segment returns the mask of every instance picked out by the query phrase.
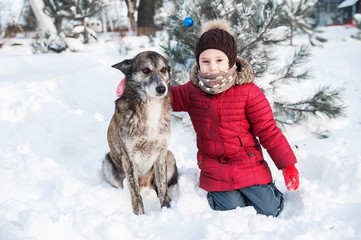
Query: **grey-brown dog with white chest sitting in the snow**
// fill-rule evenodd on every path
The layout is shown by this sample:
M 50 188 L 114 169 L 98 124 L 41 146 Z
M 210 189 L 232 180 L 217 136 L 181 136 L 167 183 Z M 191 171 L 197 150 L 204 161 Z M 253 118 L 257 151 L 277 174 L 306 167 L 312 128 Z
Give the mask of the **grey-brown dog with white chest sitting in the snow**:
M 123 188 L 127 178 L 134 214 L 144 214 L 140 189 L 146 186 L 155 189 L 161 207 L 169 208 L 168 187 L 178 181 L 176 160 L 168 150 L 171 68 L 153 51 L 112 67 L 125 74 L 125 86 L 108 127 L 110 152 L 103 160 L 104 175 L 117 188 Z

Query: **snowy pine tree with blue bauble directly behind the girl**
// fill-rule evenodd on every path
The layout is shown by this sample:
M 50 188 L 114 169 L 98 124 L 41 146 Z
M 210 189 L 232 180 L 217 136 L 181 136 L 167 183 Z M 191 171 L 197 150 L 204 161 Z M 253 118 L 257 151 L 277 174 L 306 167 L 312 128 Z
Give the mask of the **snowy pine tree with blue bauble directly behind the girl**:
M 201 23 L 215 18 L 227 19 L 233 26 L 238 55 L 249 61 L 255 71 L 256 84 L 270 100 L 275 120 L 281 125 L 293 125 L 310 116 L 337 118 L 344 116 L 340 90 L 320 86 L 309 99 L 298 102 L 279 101 L 278 89 L 310 79 L 310 70 L 301 70 L 309 60 L 310 48 L 294 47 L 289 62 L 280 66 L 274 55 L 276 47 L 289 39 L 290 31 L 282 24 L 281 12 L 286 1 L 277 0 L 191 0 L 177 1 L 178 9 L 169 18 L 169 41 L 163 46 L 173 66 L 174 85 L 188 81 L 188 70 L 194 63 L 193 49 L 199 37 Z M 192 27 L 183 26 L 183 19 L 191 17 Z M 284 44 L 283 44 L 284 45 Z

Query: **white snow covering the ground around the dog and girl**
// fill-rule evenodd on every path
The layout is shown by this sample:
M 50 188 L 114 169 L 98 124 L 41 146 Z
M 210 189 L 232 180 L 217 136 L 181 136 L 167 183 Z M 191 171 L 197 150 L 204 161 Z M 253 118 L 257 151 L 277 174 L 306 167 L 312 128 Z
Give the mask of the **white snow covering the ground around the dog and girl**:
M 126 56 L 119 55 L 119 40 L 111 34 L 78 53 L 32 55 L 27 45 L 5 45 L 0 239 L 361 239 L 361 42 L 350 38 L 356 31 L 325 28 L 328 42 L 313 48 L 309 65 L 315 78 L 308 84 L 344 88 L 347 117 L 320 121 L 330 131 L 327 139 L 301 127 L 284 132 L 299 161 L 299 190 L 288 192 L 266 158 L 285 194 L 279 218 L 257 215 L 251 207 L 211 210 L 198 186 L 195 136 L 176 122 L 170 149 L 179 182 L 170 189 L 170 209 L 160 209 L 156 193 L 144 189 L 145 215 L 136 216 L 128 188 L 115 189 L 104 180 L 106 132 L 123 78 L 110 66 L 140 51 L 161 51 L 158 38 L 124 38 L 132 46 Z

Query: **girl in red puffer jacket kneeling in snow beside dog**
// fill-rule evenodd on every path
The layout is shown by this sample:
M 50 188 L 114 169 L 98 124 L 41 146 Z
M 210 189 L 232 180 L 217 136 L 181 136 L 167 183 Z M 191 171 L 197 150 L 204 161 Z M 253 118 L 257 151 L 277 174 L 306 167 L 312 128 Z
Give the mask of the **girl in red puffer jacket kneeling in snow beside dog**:
M 186 111 L 191 118 L 200 187 L 208 192 L 211 208 L 253 206 L 259 214 L 278 216 L 283 194 L 273 183 L 259 142 L 282 169 L 290 191 L 299 185 L 297 160 L 265 95 L 253 83 L 250 64 L 237 57 L 230 29 L 224 20 L 204 24 L 190 81 L 171 88 L 173 111 Z

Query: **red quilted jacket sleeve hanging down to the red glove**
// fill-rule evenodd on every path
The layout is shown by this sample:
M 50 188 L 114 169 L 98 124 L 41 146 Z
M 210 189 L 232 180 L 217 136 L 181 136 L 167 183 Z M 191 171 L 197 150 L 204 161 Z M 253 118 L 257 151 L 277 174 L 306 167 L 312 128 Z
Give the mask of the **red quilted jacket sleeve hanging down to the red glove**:
M 267 149 L 268 154 L 278 169 L 283 169 L 297 162 L 286 137 L 276 126 L 271 106 L 255 84 L 249 88 L 246 103 L 246 115 L 251 124 L 253 133 Z

